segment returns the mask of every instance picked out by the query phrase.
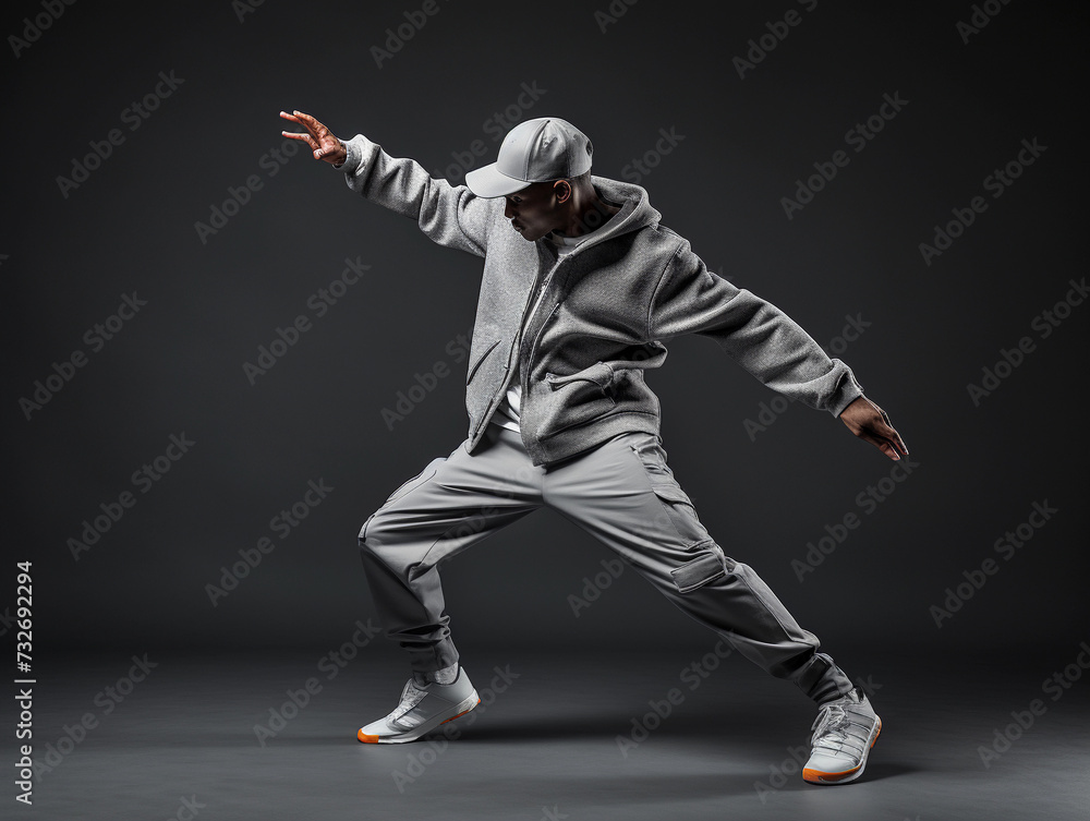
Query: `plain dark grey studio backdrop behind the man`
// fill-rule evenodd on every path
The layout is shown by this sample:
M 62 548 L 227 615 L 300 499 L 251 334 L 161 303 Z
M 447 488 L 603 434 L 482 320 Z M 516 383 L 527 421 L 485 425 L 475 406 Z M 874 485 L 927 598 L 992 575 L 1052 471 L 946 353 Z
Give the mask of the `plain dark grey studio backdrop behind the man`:
M 825 524 L 860 514 L 856 495 L 893 462 L 803 407 L 751 440 L 743 421 L 776 395 L 707 340 L 674 342 L 652 375 L 670 463 L 727 553 L 834 654 L 875 640 L 1074 652 L 1088 615 L 1090 307 L 1039 340 L 979 408 L 966 385 L 1001 348 L 1036 336 L 1033 317 L 1086 270 L 1082 7 L 1014 2 L 964 44 L 955 24 L 969 3 L 822 0 L 807 12 L 786 0 L 714 10 L 641 0 L 603 33 L 590 3 L 440 2 L 379 69 L 370 48 L 417 8 L 267 2 L 240 23 L 229 2 L 76 3 L 17 59 L 3 58 L 0 601 L 14 600 L 10 563 L 33 560 L 41 656 L 106 645 L 324 652 L 372 615 L 355 535 L 395 487 L 465 436 L 465 362 L 446 346 L 472 327 L 482 263 L 354 196 L 305 152 L 275 177 L 259 164 L 283 142 L 278 111 L 293 108 L 429 170 L 475 140 L 487 153 L 474 165 L 491 162 L 499 142 L 483 123 L 522 83 L 546 89 L 523 116 L 584 130 L 602 176 L 623 179 L 659 129 L 676 129 L 683 141 L 640 181 L 665 225 L 822 345 L 849 315 L 871 323 L 837 355 L 919 467 L 802 583 L 792 559 Z M 801 24 L 739 79 L 731 58 L 790 8 Z M 10 5 L 3 32 L 38 12 Z M 184 83 L 128 131 L 120 112 L 160 71 Z M 780 197 L 844 148 L 884 94 L 909 104 L 788 220 Z M 63 197 L 57 177 L 113 128 L 124 144 Z M 1024 138 L 1046 152 L 991 200 L 983 179 Z M 255 173 L 263 189 L 202 243 L 194 224 Z M 978 194 L 988 210 L 924 265 L 918 244 Z M 251 386 L 243 362 L 278 326 L 314 318 L 307 298 L 346 257 L 371 266 L 365 279 Z M 86 351 L 84 331 L 132 291 L 147 305 L 28 421 L 20 398 L 51 363 Z M 388 430 L 382 409 L 437 361 L 451 375 Z M 133 471 L 182 432 L 192 451 L 73 560 L 65 542 L 83 520 L 133 490 Z M 276 539 L 270 518 L 319 478 L 332 494 Z M 993 543 L 1043 499 L 1059 512 L 1004 562 Z M 266 535 L 276 550 L 213 607 L 206 584 Z M 937 629 L 929 607 L 990 556 L 1000 572 Z M 463 648 L 710 644 L 631 571 L 576 618 L 569 595 L 606 558 L 573 526 L 535 514 L 446 565 L 456 637 Z

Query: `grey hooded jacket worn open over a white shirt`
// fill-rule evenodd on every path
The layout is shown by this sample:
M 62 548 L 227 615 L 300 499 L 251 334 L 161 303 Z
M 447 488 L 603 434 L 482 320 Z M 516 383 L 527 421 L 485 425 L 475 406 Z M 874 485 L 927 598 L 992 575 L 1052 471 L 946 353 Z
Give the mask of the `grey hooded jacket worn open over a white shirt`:
M 639 185 L 592 177 L 598 196 L 621 209 L 598 239 L 559 256 L 549 240 L 530 242 L 511 228 L 504 197 L 432 179 L 363 134 L 344 145 L 336 168 L 352 191 L 416 220 L 434 242 L 484 257 L 465 375 L 469 452 L 517 362 L 522 440 L 534 464 L 625 431 L 658 434 L 658 397 L 644 371 L 659 367 L 663 342 L 682 334 L 711 337 L 764 385 L 834 415 L 863 393 L 851 369 L 783 311 L 708 270 L 688 240 L 661 225 Z

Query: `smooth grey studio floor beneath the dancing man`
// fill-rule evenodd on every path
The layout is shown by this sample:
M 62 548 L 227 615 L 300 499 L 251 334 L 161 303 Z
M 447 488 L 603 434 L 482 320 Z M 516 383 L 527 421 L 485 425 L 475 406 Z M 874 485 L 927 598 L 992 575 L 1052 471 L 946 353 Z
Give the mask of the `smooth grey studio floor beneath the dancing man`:
M 392 709 L 404 669 L 392 652 L 372 647 L 330 677 L 335 667 L 323 652 L 149 653 L 157 666 L 120 701 L 106 687 L 128 672 L 125 654 L 53 659 L 37 672 L 34 717 L 35 756 L 44 759 L 51 745 L 53 766 L 35 784 L 33 809 L 13 800 L 5 778 L 4 804 L 14 810 L 3 817 L 1090 816 L 1090 683 L 1042 690 L 1078 648 L 899 656 L 860 650 L 849 654 L 855 669 L 838 656 L 871 688 L 884 729 L 863 776 L 835 787 L 808 785 L 799 774 L 810 702 L 737 655 L 708 656 L 706 678 L 697 678 L 685 671 L 701 663 L 699 649 L 591 657 L 463 648 L 477 689 L 491 690 L 476 719 L 457 733 L 460 722 L 448 725 L 451 738 L 373 746 L 359 744 L 355 729 Z M 308 679 L 308 703 L 298 714 L 284 711 L 289 721 L 263 746 L 255 725 L 267 724 L 269 711 Z M 671 688 L 680 703 L 622 754 L 618 737 Z M 979 748 L 1036 698 L 1044 710 L 985 769 Z M 65 726 L 87 714 L 97 724 L 78 742 L 62 741 L 72 735 Z M 14 753 L 13 734 L 4 735 Z

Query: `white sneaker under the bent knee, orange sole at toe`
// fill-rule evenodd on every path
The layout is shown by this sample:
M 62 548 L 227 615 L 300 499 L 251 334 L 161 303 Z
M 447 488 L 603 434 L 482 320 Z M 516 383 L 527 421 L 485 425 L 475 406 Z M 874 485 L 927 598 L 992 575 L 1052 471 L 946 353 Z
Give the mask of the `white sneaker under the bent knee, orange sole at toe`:
M 364 744 L 415 741 L 480 703 L 481 698 L 461 665 L 458 678 L 449 685 L 427 681 L 420 674 L 413 674 L 401 691 L 401 703 L 397 709 L 386 717 L 361 727 L 355 736 Z

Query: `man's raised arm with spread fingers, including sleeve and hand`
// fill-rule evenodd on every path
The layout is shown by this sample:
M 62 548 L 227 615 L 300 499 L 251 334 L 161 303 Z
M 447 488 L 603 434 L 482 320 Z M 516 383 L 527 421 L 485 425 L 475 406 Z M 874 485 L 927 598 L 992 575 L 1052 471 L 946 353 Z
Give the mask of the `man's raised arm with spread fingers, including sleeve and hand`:
M 284 131 L 283 135 L 306 142 L 315 159 L 344 173 L 352 191 L 415 219 L 433 242 L 484 256 L 496 222 L 489 201 L 474 196 L 465 185 L 432 179 L 415 160 L 391 157 L 363 134 L 342 141 L 310 114 L 281 111 L 280 117 L 306 129 L 303 134 Z

